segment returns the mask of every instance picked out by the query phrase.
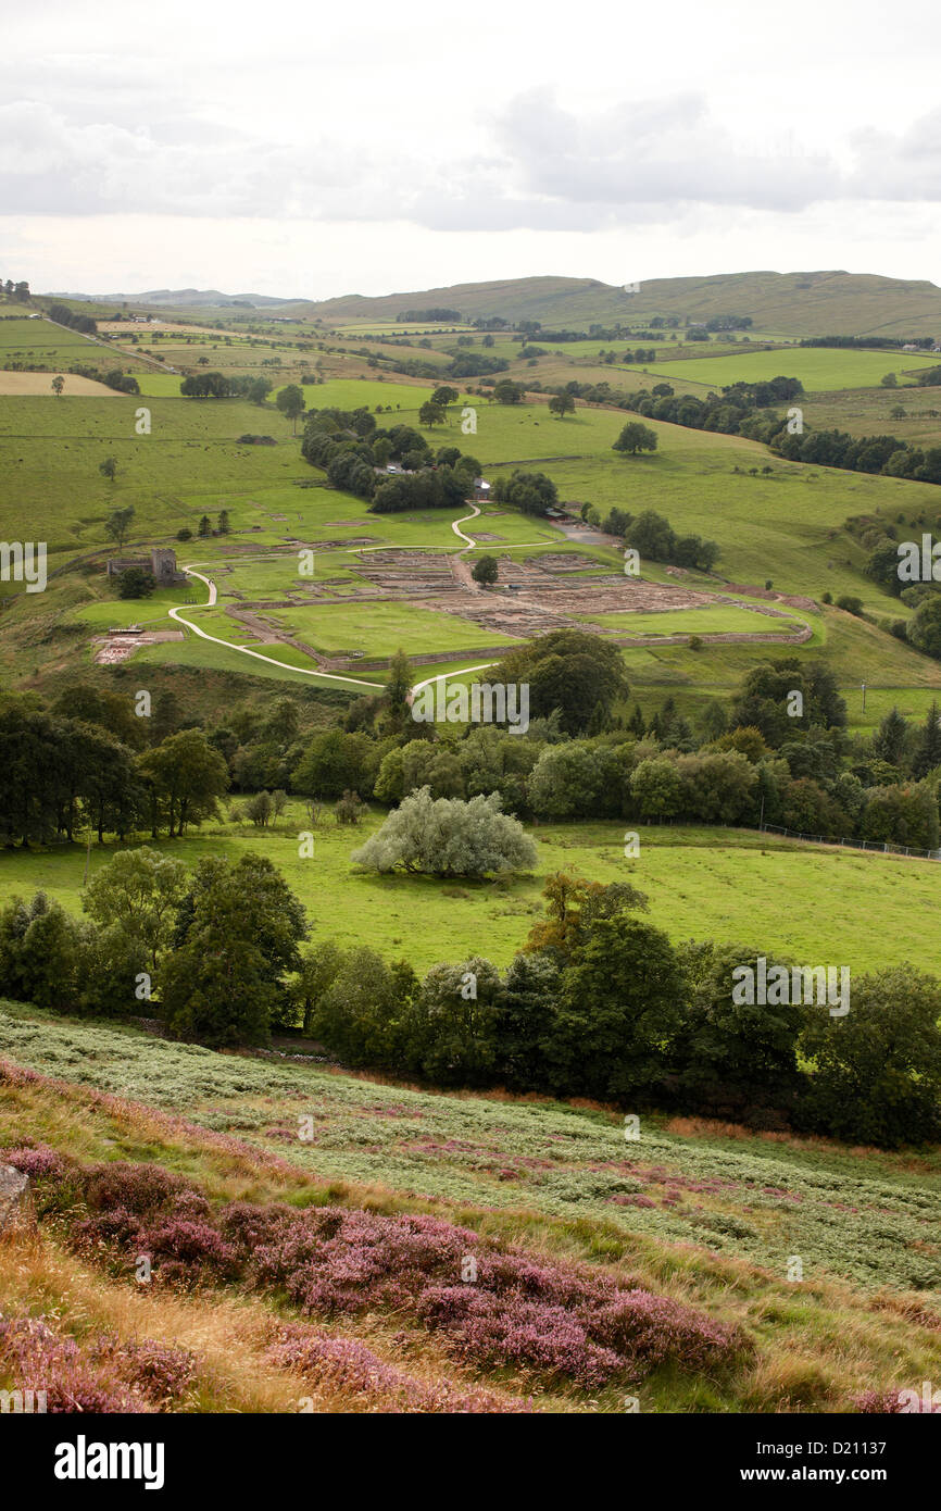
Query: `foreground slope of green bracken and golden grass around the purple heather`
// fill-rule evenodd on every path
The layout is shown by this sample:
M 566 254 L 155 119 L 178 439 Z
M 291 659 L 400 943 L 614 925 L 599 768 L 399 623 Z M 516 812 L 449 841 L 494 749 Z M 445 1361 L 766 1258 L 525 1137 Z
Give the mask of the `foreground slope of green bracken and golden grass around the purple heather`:
M 731 1381 L 657 1373 L 637 1390 L 645 1411 L 852 1410 L 864 1389 L 930 1375 L 930 1307 L 941 1275 L 932 1242 L 938 1170 L 929 1159 L 730 1138 L 714 1126 L 656 1117 L 643 1118 L 640 1141 L 628 1144 L 621 1120 L 601 1109 L 433 1095 L 317 1067 L 218 1056 L 12 1005 L 0 1011 L 0 1052 L 60 1077 L 8 1083 L 6 1144 L 18 1144 L 27 1126 L 83 1160 L 163 1163 L 216 1198 L 433 1212 L 482 1238 L 604 1266 L 746 1328 L 755 1358 Z M 101 1095 L 89 1105 L 91 1091 Z M 298 1138 L 308 1112 L 313 1144 Z M 784 1278 L 793 1254 L 804 1262 L 801 1283 Z M 246 1342 L 246 1363 L 258 1357 L 266 1318 L 255 1301 L 240 1302 L 239 1313 L 228 1310 L 236 1298 L 225 1302 L 221 1327 L 201 1337 L 204 1293 L 139 1298 L 127 1280 L 106 1284 L 63 1259 L 53 1239 L 3 1284 L 5 1298 L 11 1292 L 42 1310 L 59 1301 L 76 1330 L 103 1313 L 150 1336 L 174 1337 L 177 1325 L 180 1340 L 208 1345 L 204 1369 L 216 1401 L 228 1392 L 236 1410 L 251 1410 L 246 1398 L 267 1392 L 281 1405 L 255 1410 L 292 1408 L 284 1380 L 264 1370 L 252 1392 L 251 1369 L 234 1361 Z M 240 1346 L 219 1380 L 219 1342 L 231 1322 Z M 399 1319 L 355 1324 L 363 1325 L 378 1351 L 399 1328 L 399 1360 L 420 1349 L 424 1369 L 441 1370 L 435 1346 L 403 1333 Z M 526 1390 L 508 1372 L 500 1383 Z M 586 1402 L 572 1392 L 536 1390 L 536 1405 L 622 1408 L 613 1392 Z

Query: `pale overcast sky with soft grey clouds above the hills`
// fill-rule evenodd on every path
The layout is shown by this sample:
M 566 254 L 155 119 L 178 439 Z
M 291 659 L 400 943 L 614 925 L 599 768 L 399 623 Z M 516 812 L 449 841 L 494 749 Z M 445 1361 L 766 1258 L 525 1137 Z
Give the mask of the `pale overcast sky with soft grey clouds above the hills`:
M 941 284 L 939 65 L 936 0 L 8 8 L 0 277 Z

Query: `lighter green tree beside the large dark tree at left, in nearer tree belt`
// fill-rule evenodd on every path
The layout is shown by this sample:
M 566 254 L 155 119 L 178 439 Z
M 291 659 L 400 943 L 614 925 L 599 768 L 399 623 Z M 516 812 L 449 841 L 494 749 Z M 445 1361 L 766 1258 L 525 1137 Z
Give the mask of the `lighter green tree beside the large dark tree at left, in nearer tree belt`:
M 150 969 L 157 970 L 171 946 L 177 908 L 186 893 L 187 870 L 183 861 L 147 845 L 118 851 L 85 888 L 82 907 L 103 928 L 118 925 L 145 950 Z

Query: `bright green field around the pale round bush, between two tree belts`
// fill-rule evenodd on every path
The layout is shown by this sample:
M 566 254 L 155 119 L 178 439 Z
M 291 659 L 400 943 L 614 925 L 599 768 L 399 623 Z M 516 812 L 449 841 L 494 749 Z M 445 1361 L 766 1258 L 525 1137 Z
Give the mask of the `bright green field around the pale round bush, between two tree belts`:
M 276 648 L 272 653 L 281 654 Z M 361 873 L 350 851 L 382 817 L 375 810 L 355 833 L 332 817 L 325 820 L 310 860 L 298 855 L 298 834 L 310 825 L 296 801 L 273 831 L 207 825 L 184 840 L 154 843 L 190 864 L 210 854 L 233 860 L 246 851 L 270 855 L 308 908 L 314 938 L 369 943 L 421 967 L 473 953 L 509 964 L 541 913 L 545 875 L 575 867 L 594 881 L 630 879 L 640 887 L 649 896 L 651 922 L 674 940 L 755 943 L 799 964 L 837 961 L 853 970 L 917 961 L 920 969 L 941 973 L 941 941 L 924 929 L 938 888 L 933 861 L 739 830 L 636 825 L 630 827 L 640 836 L 640 858 L 628 861 L 625 822 L 541 823 L 532 830 L 539 849 L 535 875 L 456 885 L 430 876 Z M 115 848 L 92 845 L 91 873 L 107 864 Z M 77 913 L 83 870 L 82 845 L 36 854 L 5 851 L 0 898 L 45 888 Z M 878 931 L 873 917 L 879 919 Z

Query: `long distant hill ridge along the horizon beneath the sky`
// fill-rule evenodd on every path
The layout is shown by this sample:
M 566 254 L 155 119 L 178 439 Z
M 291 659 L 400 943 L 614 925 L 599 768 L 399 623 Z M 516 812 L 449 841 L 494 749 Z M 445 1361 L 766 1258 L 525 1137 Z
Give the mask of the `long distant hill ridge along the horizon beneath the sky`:
M 335 299 L 279 299 L 228 295 L 218 289 L 150 289 L 137 295 L 57 295 L 134 307 L 211 310 L 251 307 L 282 314 L 343 320 L 394 320 L 406 310 L 449 307 L 468 319 L 498 316 L 539 320 L 547 328 L 643 325 L 656 314 L 708 320 L 719 314 L 751 316 L 755 329 L 784 335 L 941 335 L 941 289 L 927 280 L 847 272 L 714 273 L 708 278 L 651 278 L 628 293 L 597 278 L 508 278 L 452 284 L 411 293 L 343 295 Z

